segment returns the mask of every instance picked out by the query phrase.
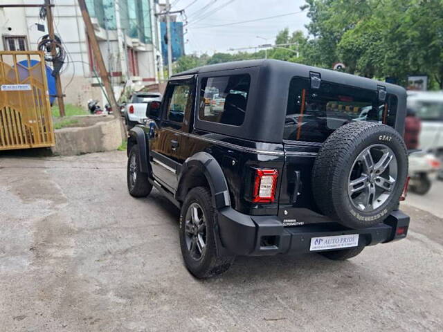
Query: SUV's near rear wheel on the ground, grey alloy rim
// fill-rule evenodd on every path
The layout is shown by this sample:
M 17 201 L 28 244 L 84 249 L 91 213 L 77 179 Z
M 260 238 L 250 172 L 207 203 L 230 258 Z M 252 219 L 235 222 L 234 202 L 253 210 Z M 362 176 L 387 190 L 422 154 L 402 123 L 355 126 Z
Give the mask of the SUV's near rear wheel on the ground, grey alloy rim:
M 200 279 L 224 273 L 233 264 L 234 257 L 217 256 L 216 221 L 209 190 L 190 190 L 180 212 L 180 247 L 186 268 Z

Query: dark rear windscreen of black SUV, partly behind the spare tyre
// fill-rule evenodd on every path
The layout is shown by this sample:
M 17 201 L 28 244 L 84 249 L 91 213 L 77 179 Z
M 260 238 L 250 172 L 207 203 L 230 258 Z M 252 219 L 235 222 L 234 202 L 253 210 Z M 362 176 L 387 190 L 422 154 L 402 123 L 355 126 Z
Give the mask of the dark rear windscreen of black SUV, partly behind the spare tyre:
M 334 130 L 352 121 L 374 121 L 394 127 L 396 110 L 395 95 L 380 102 L 377 91 L 323 81 L 320 89 L 311 89 L 309 80 L 294 77 L 289 86 L 283 138 L 324 142 Z

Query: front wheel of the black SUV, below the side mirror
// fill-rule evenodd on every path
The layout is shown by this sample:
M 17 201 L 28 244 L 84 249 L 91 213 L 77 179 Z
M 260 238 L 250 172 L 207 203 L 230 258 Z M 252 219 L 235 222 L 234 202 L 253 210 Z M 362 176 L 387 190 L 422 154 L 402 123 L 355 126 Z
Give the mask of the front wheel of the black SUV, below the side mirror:
M 134 145 L 127 159 L 127 189 L 134 197 L 145 197 L 150 194 L 152 185 L 149 183 L 147 173 L 140 169 L 140 151 L 138 145 Z

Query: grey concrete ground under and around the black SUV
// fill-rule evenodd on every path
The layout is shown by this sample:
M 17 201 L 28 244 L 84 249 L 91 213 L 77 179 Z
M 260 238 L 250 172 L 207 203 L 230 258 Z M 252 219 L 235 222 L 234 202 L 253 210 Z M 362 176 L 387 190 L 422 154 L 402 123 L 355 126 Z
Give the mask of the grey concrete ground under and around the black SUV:
M 201 282 L 177 209 L 130 197 L 125 160 L 0 158 L 0 331 L 443 331 L 443 220 L 417 197 L 404 241 L 345 262 L 238 257 Z

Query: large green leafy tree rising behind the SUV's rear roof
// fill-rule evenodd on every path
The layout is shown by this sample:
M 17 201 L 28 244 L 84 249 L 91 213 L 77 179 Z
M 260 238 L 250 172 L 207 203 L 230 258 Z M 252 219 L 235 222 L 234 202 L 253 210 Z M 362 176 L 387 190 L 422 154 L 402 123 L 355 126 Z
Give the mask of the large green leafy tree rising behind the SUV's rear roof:
M 366 77 L 426 73 L 443 89 L 443 0 L 307 0 L 306 63 Z

